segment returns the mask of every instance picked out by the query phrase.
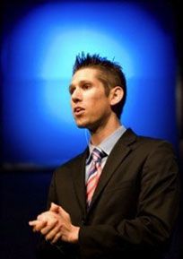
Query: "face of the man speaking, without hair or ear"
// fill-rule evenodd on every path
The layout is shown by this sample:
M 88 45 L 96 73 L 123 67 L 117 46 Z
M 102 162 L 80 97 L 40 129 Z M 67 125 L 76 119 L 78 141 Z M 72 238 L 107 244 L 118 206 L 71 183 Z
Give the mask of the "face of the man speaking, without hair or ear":
M 109 96 L 106 96 L 99 72 L 94 68 L 83 68 L 74 73 L 70 85 L 71 106 L 74 120 L 79 127 L 95 130 L 111 115 Z

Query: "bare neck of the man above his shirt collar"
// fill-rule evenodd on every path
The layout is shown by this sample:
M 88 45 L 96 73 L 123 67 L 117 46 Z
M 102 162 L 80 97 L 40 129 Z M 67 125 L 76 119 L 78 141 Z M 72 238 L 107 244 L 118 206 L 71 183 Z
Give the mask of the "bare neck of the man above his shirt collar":
M 99 145 L 110 134 L 115 132 L 120 126 L 118 118 L 111 118 L 107 124 L 100 125 L 95 131 L 91 131 L 91 142 L 93 145 Z

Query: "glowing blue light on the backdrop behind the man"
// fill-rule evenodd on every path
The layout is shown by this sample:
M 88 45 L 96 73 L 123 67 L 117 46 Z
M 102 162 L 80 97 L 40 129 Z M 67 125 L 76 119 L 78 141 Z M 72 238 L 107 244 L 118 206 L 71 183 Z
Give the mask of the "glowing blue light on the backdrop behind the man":
M 128 82 L 125 125 L 171 140 L 176 131 L 174 48 L 153 15 L 134 4 L 45 4 L 4 39 L 7 160 L 57 163 L 83 150 L 87 140 L 76 130 L 68 94 L 81 51 L 122 65 Z

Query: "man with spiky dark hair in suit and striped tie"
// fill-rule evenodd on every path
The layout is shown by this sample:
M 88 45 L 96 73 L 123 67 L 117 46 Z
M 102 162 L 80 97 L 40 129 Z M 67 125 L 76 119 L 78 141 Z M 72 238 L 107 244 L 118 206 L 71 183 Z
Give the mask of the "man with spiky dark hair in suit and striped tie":
M 82 154 L 57 168 L 48 211 L 30 221 L 43 237 L 39 258 L 162 258 L 179 211 L 179 177 L 168 142 L 120 124 L 121 67 L 77 56 L 70 85 L 76 125 L 89 129 Z

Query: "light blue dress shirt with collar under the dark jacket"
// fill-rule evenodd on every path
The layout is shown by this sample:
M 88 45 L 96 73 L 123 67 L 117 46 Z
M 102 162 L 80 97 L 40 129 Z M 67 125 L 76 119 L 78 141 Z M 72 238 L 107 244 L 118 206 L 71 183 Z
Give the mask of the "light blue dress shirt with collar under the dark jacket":
M 92 158 L 92 150 L 94 148 L 98 148 L 100 151 L 104 151 L 106 153 L 106 156 L 101 160 L 101 168 L 104 167 L 108 157 L 109 153 L 112 151 L 115 144 L 118 142 L 119 138 L 126 132 L 126 127 L 124 125 L 121 125 L 114 133 L 110 134 L 105 140 L 100 142 L 98 146 L 92 145 L 92 143 L 89 143 L 89 157 L 86 160 L 86 168 L 85 168 L 85 182 L 87 182 L 88 175 L 89 175 L 89 168 L 91 166 Z

